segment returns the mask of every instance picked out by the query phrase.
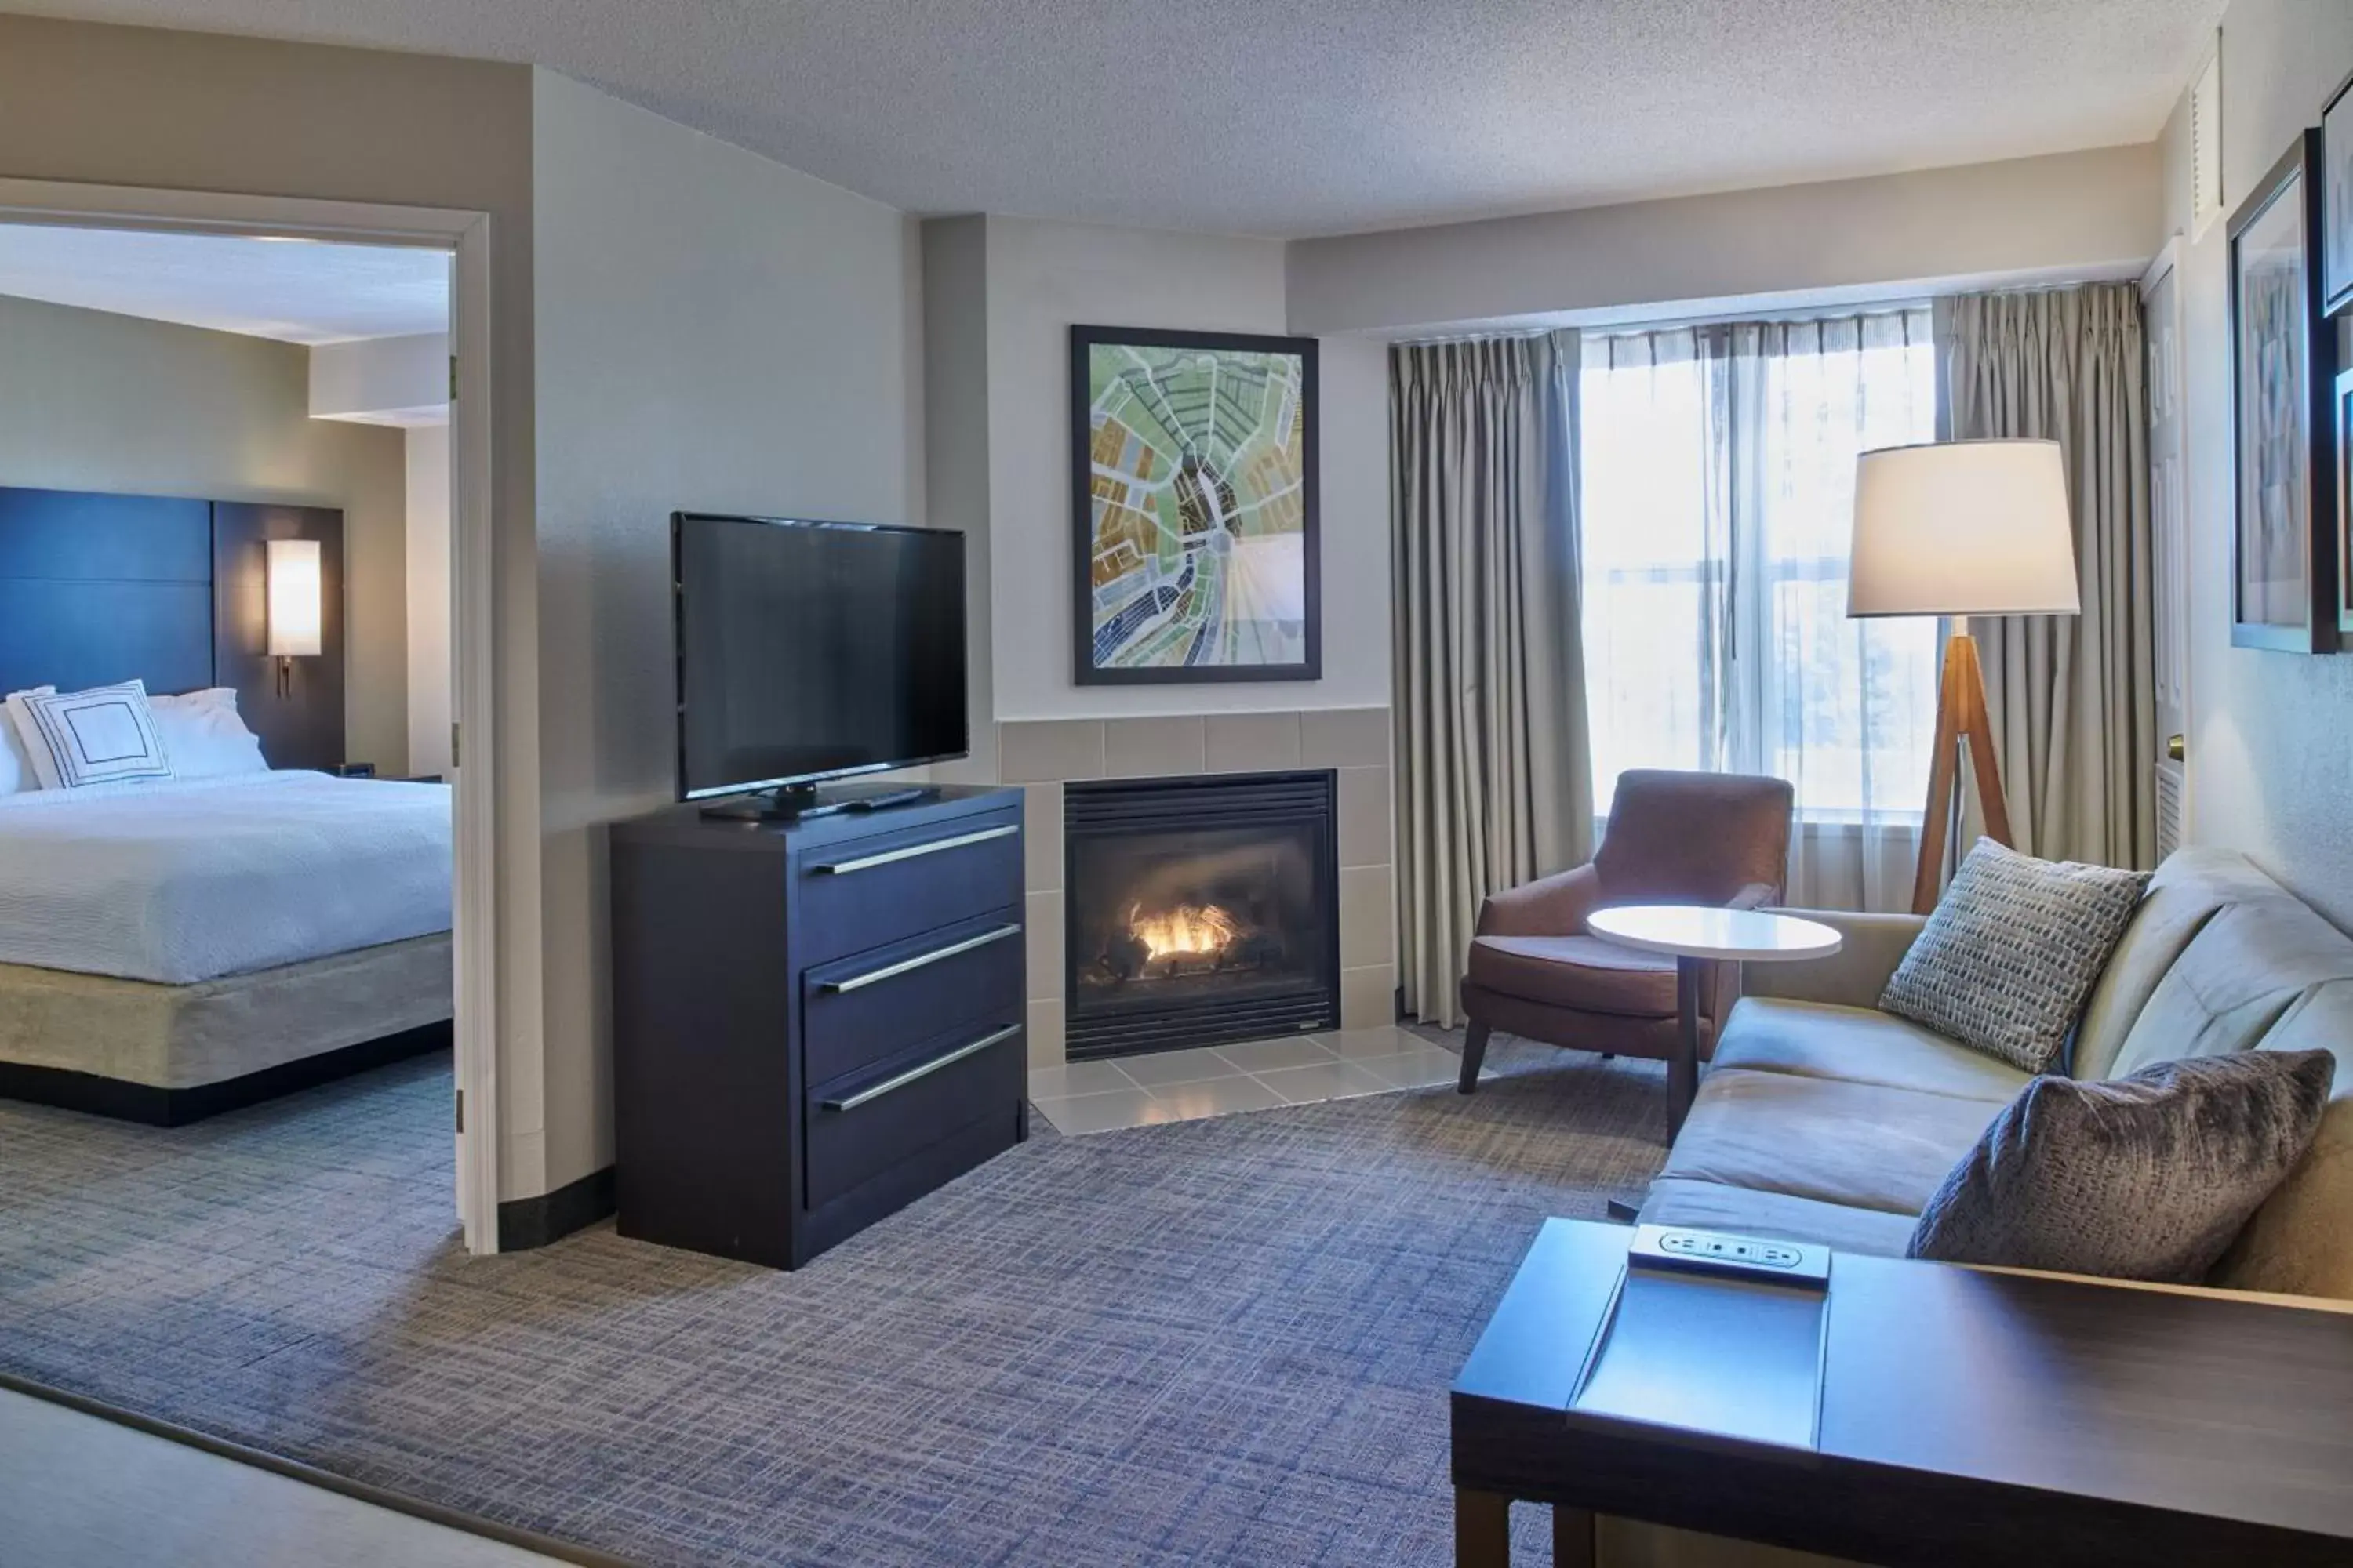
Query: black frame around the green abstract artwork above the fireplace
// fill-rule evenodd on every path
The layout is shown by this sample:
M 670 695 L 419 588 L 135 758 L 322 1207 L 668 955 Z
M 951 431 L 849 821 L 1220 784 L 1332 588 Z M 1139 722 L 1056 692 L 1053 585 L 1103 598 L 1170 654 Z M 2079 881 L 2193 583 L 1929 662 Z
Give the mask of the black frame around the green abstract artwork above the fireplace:
M 1299 360 L 1299 595 L 1301 658 L 1289 663 L 1106 665 L 1094 625 L 1094 397 L 1096 348 L 1195 348 Z M 1252 331 L 1155 331 L 1144 327 L 1071 327 L 1071 677 L 1080 686 L 1191 686 L 1224 682 L 1322 679 L 1322 508 L 1320 381 L 1315 339 Z

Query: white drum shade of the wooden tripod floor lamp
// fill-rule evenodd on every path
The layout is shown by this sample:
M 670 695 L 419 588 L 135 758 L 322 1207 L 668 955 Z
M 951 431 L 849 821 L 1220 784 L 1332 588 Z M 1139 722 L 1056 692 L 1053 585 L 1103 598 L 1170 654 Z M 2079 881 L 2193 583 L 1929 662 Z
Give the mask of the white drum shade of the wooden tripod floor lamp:
M 1854 461 L 1849 616 L 2073 616 L 2059 442 L 1882 447 Z

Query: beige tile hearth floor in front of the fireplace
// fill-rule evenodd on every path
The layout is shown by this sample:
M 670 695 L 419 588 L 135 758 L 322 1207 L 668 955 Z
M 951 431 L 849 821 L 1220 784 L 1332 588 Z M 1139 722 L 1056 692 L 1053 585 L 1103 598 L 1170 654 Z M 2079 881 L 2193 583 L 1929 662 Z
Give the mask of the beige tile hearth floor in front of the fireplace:
M 1461 1058 L 1445 1046 L 1384 1025 L 1033 1067 L 1031 1103 L 1059 1133 L 1108 1133 L 1151 1121 L 1426 1088 L 1452 1084 L 1459 1072 Z

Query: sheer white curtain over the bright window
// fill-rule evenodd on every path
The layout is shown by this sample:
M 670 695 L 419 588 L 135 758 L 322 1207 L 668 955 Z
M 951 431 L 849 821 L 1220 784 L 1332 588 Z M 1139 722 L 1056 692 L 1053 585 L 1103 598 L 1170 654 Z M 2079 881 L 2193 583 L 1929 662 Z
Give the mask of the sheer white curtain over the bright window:
M 1849 621 L 1854 454 L 1937 437 L 1929 313 L 1588 334 L 1593 799 L 1635 766 L 1798 788 L 1788 898 L 1901 910 L 1937 623 Z

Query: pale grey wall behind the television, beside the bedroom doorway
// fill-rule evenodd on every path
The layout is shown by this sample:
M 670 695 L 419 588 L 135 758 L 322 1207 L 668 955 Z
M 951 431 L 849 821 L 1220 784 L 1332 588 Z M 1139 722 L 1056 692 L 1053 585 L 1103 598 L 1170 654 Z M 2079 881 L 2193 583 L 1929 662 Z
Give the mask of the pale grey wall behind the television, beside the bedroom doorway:
M 508 1093 L 546 1095 L 513 1107 L 520 1192 L 612 1164 L 598 827 L 673 795 L 671 510 L 922 522 L 911 219 L 544 71 L 532 165 L 546 1060 Z

